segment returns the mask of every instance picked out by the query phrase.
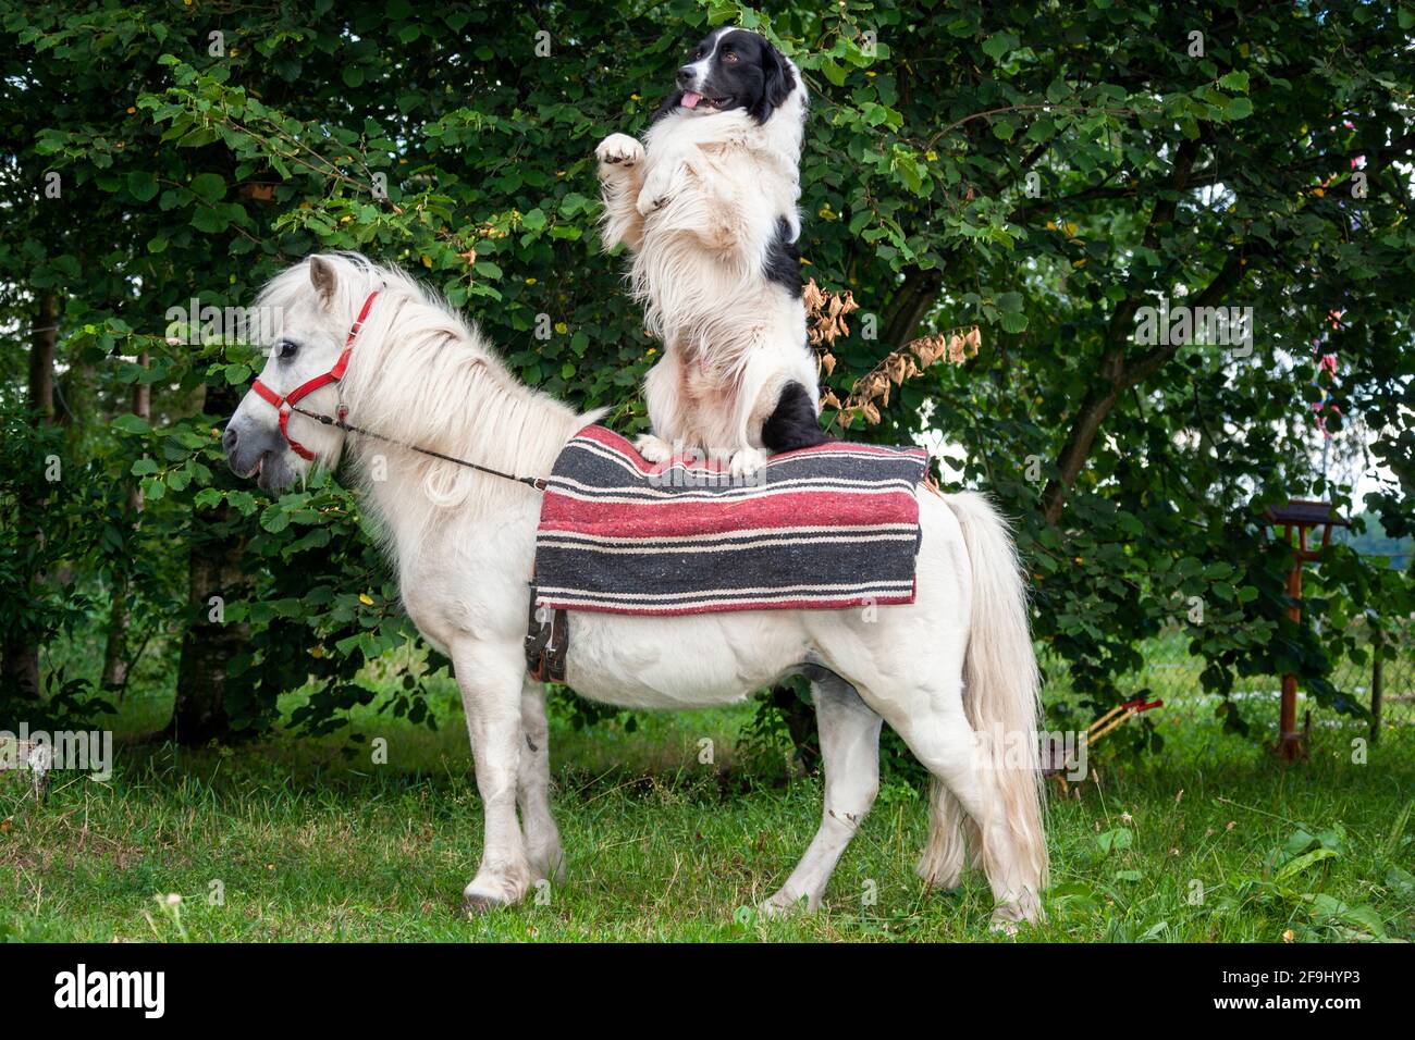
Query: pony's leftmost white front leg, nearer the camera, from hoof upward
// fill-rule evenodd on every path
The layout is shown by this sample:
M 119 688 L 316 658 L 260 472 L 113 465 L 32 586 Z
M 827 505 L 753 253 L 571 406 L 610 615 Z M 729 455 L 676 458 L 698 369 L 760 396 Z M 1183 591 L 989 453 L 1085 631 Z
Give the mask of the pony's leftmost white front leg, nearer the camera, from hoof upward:
M 451 659 L 467 713 L 485 816 L 481 866 L 463 893 L 463 907 L 477 913 L 519 903 L 532 882 L 516 822 L 516 785 L 525 746 L 521 726 L 525 657 L 516 644 L 468 640 L 451 647 Z

